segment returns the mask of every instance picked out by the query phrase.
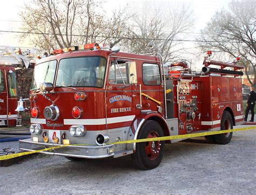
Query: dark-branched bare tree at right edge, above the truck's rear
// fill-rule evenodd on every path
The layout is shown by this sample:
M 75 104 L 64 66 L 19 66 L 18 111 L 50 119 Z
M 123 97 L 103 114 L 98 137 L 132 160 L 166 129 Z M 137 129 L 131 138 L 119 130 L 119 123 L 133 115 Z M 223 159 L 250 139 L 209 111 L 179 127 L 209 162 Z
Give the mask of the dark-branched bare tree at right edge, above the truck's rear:
M 255 6 L 255 0 L 232 1 L 228 10 L 215 13 L 201 31 L 200 39 L 206 42 L 199 43 L 202 50 L 212 48 L 215 52 L 244 58 L 247 79 L 254 86 L 256 79 L 253 82 L 249 72 L 253 72 L 256 78 Z

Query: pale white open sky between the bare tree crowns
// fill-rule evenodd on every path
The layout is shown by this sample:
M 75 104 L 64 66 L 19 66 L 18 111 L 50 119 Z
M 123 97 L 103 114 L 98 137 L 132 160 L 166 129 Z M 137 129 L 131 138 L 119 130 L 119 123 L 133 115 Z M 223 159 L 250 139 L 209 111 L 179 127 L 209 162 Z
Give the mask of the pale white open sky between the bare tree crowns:
M 28 3 L 31 0 L 8 0 L 1 1 L 0 7 L 0 31 L 21 31 L 21 18 L 19 18 L 18 12 L 22 10 L 24 3 Z M 199 36 L 200 29 L 203 29 L 206 23 L 211 19 L 214 12 L 220 10 L 222 8 L 227 8 L 228 2 L 231 0 L 151 0 L 153 2 L 157 2 L 159 5 L 166 2 L 185 2 L 189 3 L 192 6 L 194 16 L 196 17 L 196 22 L 193 26 L 193 29 L 186 34 L 188 37 L 186 39 L 195 39 Z M 106 13 L 110 13 L 113 8 L 119 8 L 120 6 L 124 6 L 127 3 L 130 3 L 131 8 L 134 6 L 136 8 L 137 5 L 142 4 L 145 0 L 106 0 L 105 5 L 103 5 L 103 9 Z M 100 11 L 100 10 L 99 10 Z M 160 13 L 159 13 L 160 14 Z M 193 42 L 186 44 L 188 47 L 193 47 Z M 33 47 L 29 43 L 29 40 L 20 40 L 18 33 L 8 33 L 8 32 L 0 32 L 0 45 L 9 45 L 16 47 Z M 191 57 L 193 58 L 193 57 Z M 194 62 L 197 59 L 192 59 Z

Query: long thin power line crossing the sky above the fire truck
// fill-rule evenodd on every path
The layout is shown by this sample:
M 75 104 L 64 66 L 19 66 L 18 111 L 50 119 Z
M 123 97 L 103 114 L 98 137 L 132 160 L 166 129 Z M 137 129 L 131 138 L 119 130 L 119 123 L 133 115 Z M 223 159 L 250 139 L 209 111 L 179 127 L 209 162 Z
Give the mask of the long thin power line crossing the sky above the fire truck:
M 22 32 L 22 31 L 3 31 L 0 32 L 9 32 L 9 33 L 23 33 L 23 34 L 45 34 L 45 35 L 55 35 L 53 33 L 42 33 L 42 32 Z M 85 37 L 82 34 L 60 34 L 56 33 L 57 36 L 75 36 L 75 37 Z M 90 35 L 90 37 L 95 37 Z M 163 41 L 184 41 L 184 42 L 204 42 L 204 43 L 215 43 L 214 40 L 186 40 L 186 39 L 155 39 L 155 38 L 136 38 L 136 37 L 122 37 L 122 36 L 97 36 L 99 38 L 116 38 L 116 39 L 133 39 L 133 40 L 163 40 Z M 220 43 L 242 43 L 240 41 L 219 41 Z

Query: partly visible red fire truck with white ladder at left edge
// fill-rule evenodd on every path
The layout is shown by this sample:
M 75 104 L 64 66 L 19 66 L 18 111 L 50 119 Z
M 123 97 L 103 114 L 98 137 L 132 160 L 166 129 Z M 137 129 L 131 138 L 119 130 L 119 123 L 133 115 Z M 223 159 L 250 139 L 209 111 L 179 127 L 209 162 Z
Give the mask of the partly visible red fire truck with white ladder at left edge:
M 21 124 L 17 108 L 16 73 L 17 68 L 28 68 L 34 58 L 34 52 L 28 48 L 0 46 L 0 126 Z

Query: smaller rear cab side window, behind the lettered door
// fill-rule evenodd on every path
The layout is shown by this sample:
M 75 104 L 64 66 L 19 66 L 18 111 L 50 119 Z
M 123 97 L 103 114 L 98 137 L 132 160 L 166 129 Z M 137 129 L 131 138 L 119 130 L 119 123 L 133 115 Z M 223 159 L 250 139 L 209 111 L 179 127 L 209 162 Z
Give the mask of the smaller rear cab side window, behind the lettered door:
M 157 64 L 143 64 L 142 73 L 144 85 L 160 85 L 159 66 Z

